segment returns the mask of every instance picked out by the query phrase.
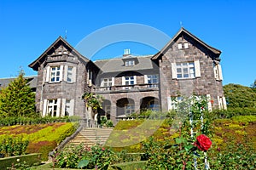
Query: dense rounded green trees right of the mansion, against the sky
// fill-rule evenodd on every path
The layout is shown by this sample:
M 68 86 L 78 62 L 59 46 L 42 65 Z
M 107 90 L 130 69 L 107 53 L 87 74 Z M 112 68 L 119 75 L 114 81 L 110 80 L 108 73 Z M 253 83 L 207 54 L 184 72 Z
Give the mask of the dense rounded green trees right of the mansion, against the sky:
M 224 86 L 224 95 L 230 108 L 256 108 L 256 91 L 239 84 Z

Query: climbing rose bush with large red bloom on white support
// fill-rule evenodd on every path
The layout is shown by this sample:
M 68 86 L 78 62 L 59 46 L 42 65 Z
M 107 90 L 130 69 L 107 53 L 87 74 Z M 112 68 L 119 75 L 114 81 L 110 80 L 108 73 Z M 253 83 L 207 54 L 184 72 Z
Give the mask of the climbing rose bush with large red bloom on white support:
M 147 169 L 208 168 L 207 150 L 212 146 L 209 120 L 203 120 L 207 99 L 183 99 L 176 105 L 171 130 L 177 131 L 173 141 L 149 139 L 143 144 L 148 157 Z M 195 138 L 197 136 L 197 138 Z

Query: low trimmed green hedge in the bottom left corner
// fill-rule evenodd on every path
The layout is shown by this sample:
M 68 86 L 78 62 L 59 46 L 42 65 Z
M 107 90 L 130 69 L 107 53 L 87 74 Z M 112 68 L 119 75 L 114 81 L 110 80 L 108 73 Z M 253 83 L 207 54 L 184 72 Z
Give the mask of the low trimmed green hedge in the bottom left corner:
M 17 161 L 19 159 L 19 161 Z M 12 164 L 17 164 L 18 162 L 26 161 L 27 165 L 35 165 L 41 162 L 41 154 L 34 153 L 24 156 L 11 156 L 0 158 L 0 169 L 7 169 L 7 167 L 12 167 Z

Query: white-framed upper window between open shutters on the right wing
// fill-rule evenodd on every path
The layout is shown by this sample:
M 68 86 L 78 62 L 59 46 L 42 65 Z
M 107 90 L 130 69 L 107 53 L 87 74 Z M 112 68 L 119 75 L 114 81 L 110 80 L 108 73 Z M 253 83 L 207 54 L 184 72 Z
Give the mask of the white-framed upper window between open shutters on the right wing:
M 177 63 L 177 78 L 195 78 L 194 62 Z

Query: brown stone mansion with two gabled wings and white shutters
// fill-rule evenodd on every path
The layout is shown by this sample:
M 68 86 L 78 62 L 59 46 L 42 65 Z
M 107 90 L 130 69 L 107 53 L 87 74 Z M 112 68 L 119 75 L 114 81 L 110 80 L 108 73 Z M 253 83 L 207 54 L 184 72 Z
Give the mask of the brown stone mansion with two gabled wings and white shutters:
M 38 71 L 36 108 L 43 116 L 91 119 L 82 95 L 102 95 L 113 122 L 143 110 L 168 111 L 172 97 L 204 95 L 208 110 L 225 109 L 221 51 L 181 28 L 157 54 L 91 61 L 58 37 L 29 66 Z

